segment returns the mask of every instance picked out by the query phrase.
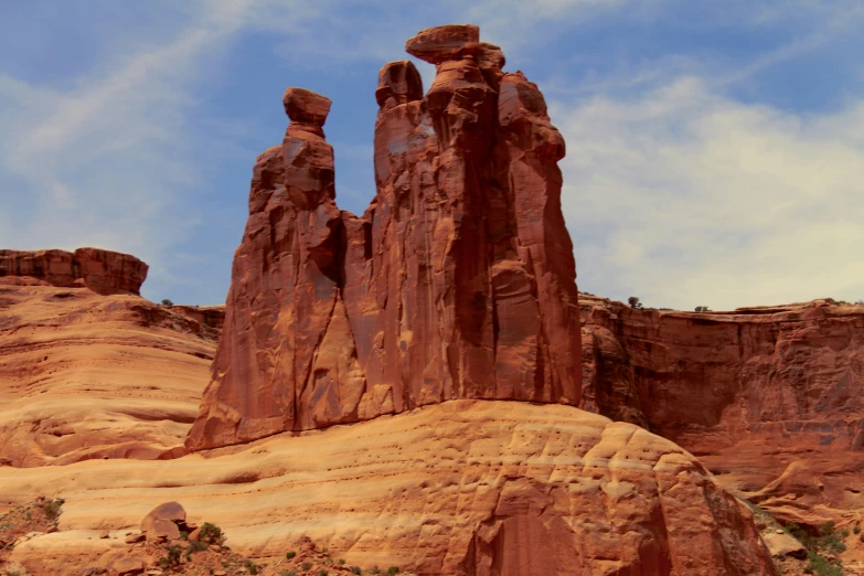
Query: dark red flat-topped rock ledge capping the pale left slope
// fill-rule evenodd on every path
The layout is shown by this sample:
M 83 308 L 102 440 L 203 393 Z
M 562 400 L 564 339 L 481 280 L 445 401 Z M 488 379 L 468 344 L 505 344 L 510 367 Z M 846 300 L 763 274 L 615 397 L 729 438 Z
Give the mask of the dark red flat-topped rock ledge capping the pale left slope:
M 98 248 L 0 250 L 0 284 L 86 286 L 100 295 L 138 295 L 147 264 L 135 256 Z

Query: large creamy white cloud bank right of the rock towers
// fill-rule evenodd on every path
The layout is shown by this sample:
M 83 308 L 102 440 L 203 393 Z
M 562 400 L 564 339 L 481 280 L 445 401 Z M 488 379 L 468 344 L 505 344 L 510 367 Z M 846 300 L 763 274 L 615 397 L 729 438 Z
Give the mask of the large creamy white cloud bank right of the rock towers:
M 791 114 L 682 77 L 553 119 L 580 288 L 681 309 L 864 298 L 864 102 Z

